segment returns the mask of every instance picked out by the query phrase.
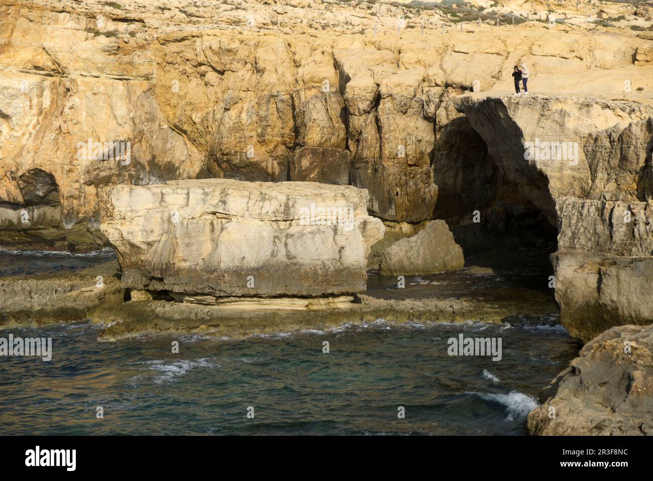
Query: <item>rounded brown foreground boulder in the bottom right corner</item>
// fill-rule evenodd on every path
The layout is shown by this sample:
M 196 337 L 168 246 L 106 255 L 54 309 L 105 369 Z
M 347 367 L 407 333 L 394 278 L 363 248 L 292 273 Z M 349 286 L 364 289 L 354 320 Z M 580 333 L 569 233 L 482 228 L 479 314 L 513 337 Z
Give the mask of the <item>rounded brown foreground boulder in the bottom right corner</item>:
M 587 343 L 528 414 L 532 435 L 653 435 L 653 326 Z

